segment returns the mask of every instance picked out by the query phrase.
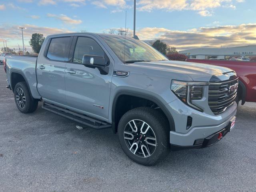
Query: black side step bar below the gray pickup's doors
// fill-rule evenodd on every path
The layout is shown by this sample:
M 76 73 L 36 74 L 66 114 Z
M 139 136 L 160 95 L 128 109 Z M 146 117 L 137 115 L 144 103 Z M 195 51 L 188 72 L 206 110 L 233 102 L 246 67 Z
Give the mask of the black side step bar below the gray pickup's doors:
M 66 117 L 68 119 L 76 121 L 80 124 L 84 124 L 88 127 L 94 128 L 94 129 L 106 129 L 106 128 L 111 128 L 112 127 L 111 124 L 108 124 L 104 121 L 96 120 L 94 118 L 90 118 L 88 116 L 70 111 L 68 109 L 58 107 L 58 106 L 53 105 L 53 104 L 49 104 L 49 103 L 46 103 L 46 102 L 43 102 L 42 108 L 47 110 L 47 111 L 50 111 L 52 113 L 55 113 L 57 115 L 60 115 L 62 117 Z

